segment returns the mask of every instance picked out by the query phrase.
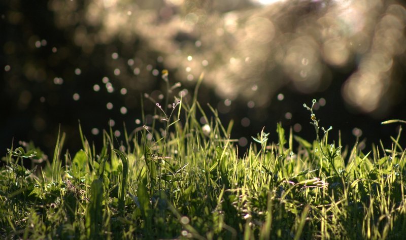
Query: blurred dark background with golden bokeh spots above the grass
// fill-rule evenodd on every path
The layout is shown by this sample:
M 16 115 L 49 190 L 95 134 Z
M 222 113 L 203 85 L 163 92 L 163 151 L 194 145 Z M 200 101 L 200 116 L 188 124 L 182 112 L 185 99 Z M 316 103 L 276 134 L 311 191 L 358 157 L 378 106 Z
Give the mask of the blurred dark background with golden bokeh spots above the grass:
M 276 123 L 315 139 L 310 112 L 344 144 L 388 148 L 406 120 L 406 9 L 384 0 L 4 0 L 0 3 L 0 154 L 18 141 L 52 153 L 123 139 L 174 97 L 217 108 L 244 149 Z M 179 84 L 177 84 L 179 82 Z M 146 97 L 147 93 L 149 97 Z M 153 99 L 151 101 L 151 99 Z M 141 116 L 144 101 L 145 121 Z M 209 114 L 210 115 L 210 114 Z M 205 122 L 201 119 L 201 123 Z M 404 134 L 403 134 L 404 136 Z M 402 136 L 401 142 L 405 143 Z M 403 145 L 404 146 L 404 145 Z

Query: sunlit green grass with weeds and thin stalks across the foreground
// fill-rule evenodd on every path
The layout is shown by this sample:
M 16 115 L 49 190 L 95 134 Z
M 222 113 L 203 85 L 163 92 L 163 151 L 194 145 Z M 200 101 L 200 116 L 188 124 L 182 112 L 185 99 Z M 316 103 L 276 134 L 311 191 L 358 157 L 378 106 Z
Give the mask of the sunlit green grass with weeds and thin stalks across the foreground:
M 168 81 L 166 74 L 163 78 Z M 160 117 L 151 126 L 125 131 L 120 143 L 112 129 L 104 131 L 99 152 L 82 131 L 82 150 L 63 152 L 64 134 L 58 134 L 53 160 L 41 164 L 36 162 L 42 152 L 32 144 L 12 146 L 0 172 L 0 237 L 406 236 L 401 131 L 390 148 L 375 146 L 365 154 L 357 144 L 343 147 L 341 141 L 329 141 L 331 128 L 319 126 L 313 101 L 304 111 L 310 111 L 316 140 L 285 133 L 277 124 L 270 134 L 278 135 L 278 143 L 268 142 L 263 130 L 238 157 L 229 138 L 232 123 L 223 126 L 213 108 L 210 115 L 202 111 L 197 89 L 191 102 L 175 98 L 171 108 L 157 104 Z M 168 85 L 168 96 L 169 90 Z M 208 126 L 199 123 L 197 114 Z

